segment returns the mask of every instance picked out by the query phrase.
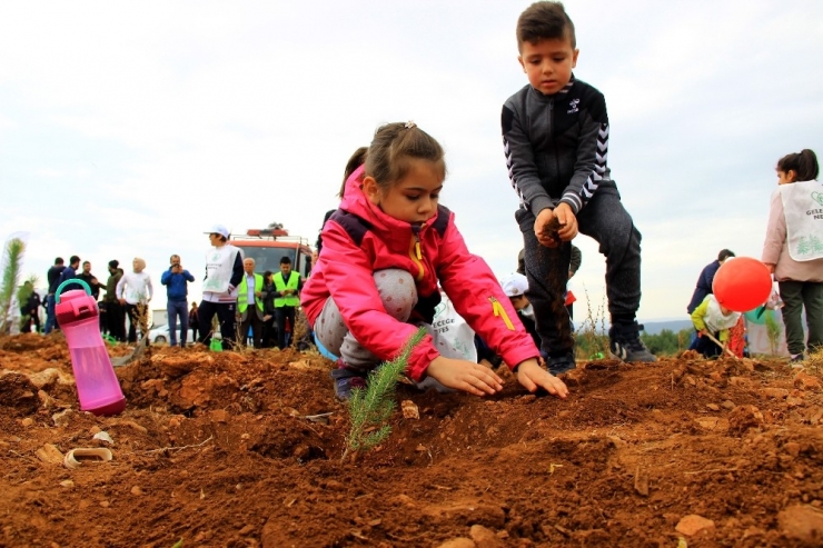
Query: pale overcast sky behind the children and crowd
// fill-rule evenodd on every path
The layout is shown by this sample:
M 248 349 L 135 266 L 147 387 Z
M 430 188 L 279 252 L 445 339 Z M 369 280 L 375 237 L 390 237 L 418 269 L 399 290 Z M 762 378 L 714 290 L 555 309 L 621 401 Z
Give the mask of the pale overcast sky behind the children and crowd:
M 143 257 L 198 278 L 215 222 L 278 221 L 314 243 L 350 153 L 415 120 L 446 149 L 442 202 L 498 277 L 522 239 L 503 102 L 527 81 L 528 1 L 0 0 L 0 239 L 24 272 Z M 686 318 L 722 248 L 760 258 L 782 156 L 823 153 L 823 2 L 569 0 L 577 78 L 606 97 L 608 161 L 643 233 L 641 320 Z M 575 239 L 573 289 L 604 303 Z M 162 289 L 152 308 L 165 308 Z

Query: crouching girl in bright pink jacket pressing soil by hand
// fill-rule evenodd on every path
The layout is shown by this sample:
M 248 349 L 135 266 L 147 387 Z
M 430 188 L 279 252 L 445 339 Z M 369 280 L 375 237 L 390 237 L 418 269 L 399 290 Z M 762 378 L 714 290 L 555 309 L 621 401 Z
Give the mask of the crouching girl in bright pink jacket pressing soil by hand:
M 337 396 L 347 399 L 363 387 L 371 369 L 400 352 L 416 326 L 428 331 L 406 371 L 418 386 L 430 378 L 476 396 L 503 389 L 494 371 L 460 358 L 432 327 L 439 282 L 520 385 L 565 398 L 566 386 L 538 365 L 539 351 L 492 270 L 469 253 L 454 215 L 438 205 L 445 177 L 435 139 L 414 122 L 383 126 L 323 229 L 323 251 L 301 302 L 316 337 L 340 357 L 333 371 Z

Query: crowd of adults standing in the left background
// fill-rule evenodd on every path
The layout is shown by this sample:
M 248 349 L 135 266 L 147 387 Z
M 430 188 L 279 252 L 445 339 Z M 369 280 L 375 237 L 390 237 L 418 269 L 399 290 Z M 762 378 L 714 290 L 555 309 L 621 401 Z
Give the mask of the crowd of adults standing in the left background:
M 189 342 L 209 345 L 215 332 L 220 333 L 221 346 L 249 343 L 255 348 L 286 348 L 296 322 L 299 293 L 304 280 L 291 270 L 291 259 L 280 259 L 280 270 L 255 272 L 255 260 L 242 258 L 239 248 L 229 242 L 229 231 L 216 225 L 208 232 L 211 247 L 206 253 L 206 276 L 202 300 L 189 308 L 188 285 L 195 276 L 181 265 L 179 255 L 169 258 L 169 267 L 160 276 L 166 288 L 166 312 L 170 346 L 186 347 Z M 108 263 L 106 283 L 91 273 L 91 263 L 71 256 L 66 265 L 58 257 L 46 277 L 46 299 L 33 290 L 20 305 L 22 332 L 40 331 L 40 308 L 46 309 L 44 335 L 59 330 L 54 309 L 59 295 L 72 289 L 88 288 L 98 302 L 100 332 L 112 342 L 136 343 L 148 337 L 151 326 L 149 303 L 155 297 L 151 276 L 146 261 L 136 257 L 131 269 L 125 271 L 118 260 Z M 81 280 L 86 286 L 72 282 Z M 31 285 L 31 281 L 26 281 Z M 157 327 L 157 326 L 155 326 Z

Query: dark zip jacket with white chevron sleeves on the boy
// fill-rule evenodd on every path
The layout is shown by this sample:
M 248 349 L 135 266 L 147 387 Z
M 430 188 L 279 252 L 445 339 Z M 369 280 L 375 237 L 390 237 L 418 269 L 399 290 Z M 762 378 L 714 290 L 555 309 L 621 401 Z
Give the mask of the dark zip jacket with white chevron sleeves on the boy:
M 572 80 L 553 96 L 527 84 L 503 106 L 503 145 L 520 207 L 536 217 L 568 203 L 577 215 L 609 178 L 608 114 L 603 93 Z

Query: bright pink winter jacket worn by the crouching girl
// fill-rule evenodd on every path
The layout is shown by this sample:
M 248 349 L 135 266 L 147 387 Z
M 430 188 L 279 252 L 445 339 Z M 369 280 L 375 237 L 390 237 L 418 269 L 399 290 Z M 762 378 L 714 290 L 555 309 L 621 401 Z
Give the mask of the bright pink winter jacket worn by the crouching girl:
M 415 279 L 418 308 L 439 297 L 439 282 L 457 313 L 509 367 L 537 358 L 537 347 L 488 265 L 466 249 L 454 213 L 440 206 L 438 216 L 417 230 L 374 206 L 360 189 L 363 177 L 363 167 L 351 173 L 339 215 L 323 228 L 323 252 L 300 293 L 309 325 L 315 325 L 326 299 L 333 297 L 360 345 L 381 360 L 395 358 L 417 328 L 386 312 L 373 273 L 399 268 Z M 353 239 L 357 232 L 353 226 L 359 229 L 355 233 L 359 245 Z M 438 356 L 427 335 L 413 351 L 407 373 L 420 380 Z

